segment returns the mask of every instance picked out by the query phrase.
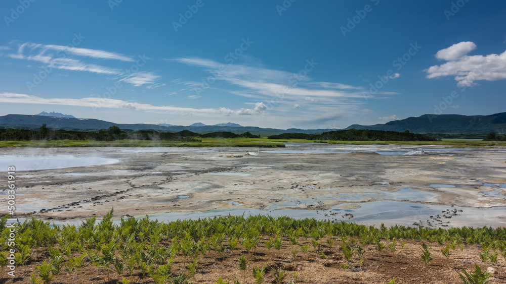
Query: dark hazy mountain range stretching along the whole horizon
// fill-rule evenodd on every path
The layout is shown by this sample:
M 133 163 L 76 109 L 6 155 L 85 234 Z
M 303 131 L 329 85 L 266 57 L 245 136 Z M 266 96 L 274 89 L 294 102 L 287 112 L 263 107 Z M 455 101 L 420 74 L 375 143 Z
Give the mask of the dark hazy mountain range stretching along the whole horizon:
M 49 128 L 68 129 L 68 130 L 99 130 L 107 129 L 113 125 L 120 129 L 131 130 L 161 130 L 161 131 L 182 131 L 190 130 L 198 133 L 230 131 L 234 133 L 243 133 L 249 131 L 254 134 L 259 133 L 308 133 L 319 134 L 326 131 L 337 129 L 275 129 L 260 128 L 253 126 L 240 126 L 235 123 L 226 123 L 218 125 L 204 125 L 196 123 L 192 126 L 177 126 L 170 124 L 117 124 L 96 119 L 76 119 L 68 115 L 62 115 L 56 112 L 41 112 L 45 115 L 6 115 L 0 117 L 0 127 L 3 128 L 30 128 L 38 129 L 46 124 Z M 49 115 L 49 116 L 47 116 Z M 67 116 L 67 117 L 58 117 Z M 409 130 L 412 133 L 439 133 L 439 134 L 487 134 L 489 132 L 506 133 L 506 112 L 495 113 L 488 116 L 463 116 L 463 115 L 423 115 L 420 117 L 411 117 L 403 120 L 395 120 L 386 124 L 375 125 L 351 125 L 346 129 L 370 129 L 404 132 Z

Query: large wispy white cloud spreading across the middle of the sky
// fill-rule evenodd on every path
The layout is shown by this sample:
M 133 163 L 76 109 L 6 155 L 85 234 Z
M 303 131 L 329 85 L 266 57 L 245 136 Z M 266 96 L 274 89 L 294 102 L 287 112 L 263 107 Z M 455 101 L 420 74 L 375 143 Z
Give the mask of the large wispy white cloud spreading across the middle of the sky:
M 334 128 L 343 117 L 349 117 L 351 113 L 359 113 L 364 110 L 363 87 L 314 81 L 309 76 L 310 72 L 302 72 L 308 61 L 301 63 L 302 69 L 297 73 L 268 69 L 258 65 L 224 65 L 198 57 L 177 58 L 171 61 L 194 66 L 207 72 L 209 77 L 202 78 L 202 82 L 222 81 L 230 84 L 229 87 L 224 87 L 221 84 L 220 88 L 223 91 L 250 98 L 252 101 L 263 101 L 262 104 L 257 102 L 255 107 L 250 109 L 220 108 L 221 113 L 226 116 L 271 112 L 271 115 L 277 113 L 279 116 L 289 117 L 290 113 L 297 109 L 296 120 L 300 119 L 297 123 L 312 125 L 316 123 Z M 398 74 L 393 76 L 399 77 Z M 185 84 L 194 91 L 199 87 L 202 88 L 202 82 L 178 81 L 179 84 Z M 380 91 L 374 96 L 371 95 L 370 98 L 388 98 L 395 94 L 399 93 Z M 315 117 L 315 113 L 318 113 L 317 117 Z

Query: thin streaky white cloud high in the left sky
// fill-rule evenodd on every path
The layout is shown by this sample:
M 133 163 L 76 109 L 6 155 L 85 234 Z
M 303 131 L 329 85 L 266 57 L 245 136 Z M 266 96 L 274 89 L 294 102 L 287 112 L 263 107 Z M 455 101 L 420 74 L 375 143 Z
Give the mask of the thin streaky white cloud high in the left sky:
M 7 53 L 4 56 L 12 59 L 40 62 L 50 68 L 112 75 L 114 80 L 130 83 L 134 86 L 153 84 L 160 77 L 149 71 L 127 73 L 124 69 L 88 62 L 90 60 L 102 60 L 119 61 L 130 65 L 132 65 L 131 63 L 139 64 L 138 58 L 116 52 L 32 42 L 11 42 L 11 44 L 17 45 L 17 48 L 6 46 L 6 50 L 14 49 L 17 52 Z

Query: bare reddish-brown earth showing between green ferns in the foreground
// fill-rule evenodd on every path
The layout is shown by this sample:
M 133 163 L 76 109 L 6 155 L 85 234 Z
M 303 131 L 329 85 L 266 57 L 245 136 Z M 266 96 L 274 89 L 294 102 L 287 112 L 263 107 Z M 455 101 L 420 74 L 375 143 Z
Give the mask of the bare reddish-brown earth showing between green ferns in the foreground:
M 265 238 L 264 238 L 265 240 Z M 363 255 L 363 262 L 359 264 L 359 259 L 355 254 L 347 269 L 343 269 L 341 264 L 346 264 L 343 259 L 343 253 L 340 250 L 341 240 L 334 238 L 335 243 L 331 250 L 325 241 L 322 241 L 320 252 L 323 252 L 325 258 L 320 258 L 313 250 L 311 243 L 301 239 L 300 245 L 306 244 L 311 247 L 311 252 L 304 254 L 300 247 L 298 249 L 299 256 L 294 259 L 291 251 L 298 246 L 289 245 L 289 240 L 284 239 L 283 247 L 280 251 L 271 248 L 267 250 L 260 242 L 256 254 L 247 254 L 241 248 L 235 249 L 233 252 L 227 252 L 222 259 L 215 252 L 209 252 L 205 256 L 199 257 L 198 269 L 194 279 L 190 281 L 194 283 L 216 283 L 219 277 L 224 280 L 233 282 L 233 279 L 239 280 L 241 283 L 254 283 L 252 276 L 253 267 L 266 266 L 266 274 L 264 283 L 275 283 L 272 272 L 275 269 L 284 268 L 287 270 L 287 276 L 283 283 L 287 283 L 294 279 L 294 283 L 387 283 L 393 278 L 395 283 L 461 283 L 457 271 L 462 273 L 462 269 L 468 272 L 475 269 L 474 263 L 478 263 L 482 269 L 486 271 L 488 267 L 496 269 L 497 273 L 493 274 L 489 280 L 490 284 L 506 283 L 506 261 L 501 256 L 498 257 L 497 263 L 482 263 L 479 258 L 480 249 L 477 246 L 464 246 L 463 251 L 458 247 L 452 251 L 452 254 L 446 258 L 440 250 L 440 246 L 435 243 L 431 244 L 431 253 L 434 260 L 429 264 L 424 264 L 421 260 L 420 243 L 409 241 L 404 247 L 401 247 L 402 240 L 398 241 L 395 252 L 391 252 L 386 248 L 381 254 L 375 246 L 368 246 Z M 237 259 L 244 254 L 247 257 L 247 269 L 243 274 L 238 269 Z M 32 261 L 27 267 L 17 268 L 16 278 L 4 278 L 3 283 L 29 283 L 30 274 L 34 270 L 35 265 L 40 265 L 45 259 L 43 254 L 39 257 L 32 256 Z M 174 274 L 180 274 L 186 271 L 183 265 L 183 257 L 177 257 L 172 264 Z M 185 268 L 185 269 L 183 269 Z M 294 272 L 299 272 L 297 278 L 294 278 Z M 115 272 L 110 272 L 110 279 L 106 281 L 107 273 L 105 270 L 95 267 L 94 264 L 86 263 L 79 272 L 74 271 L 67 274 L 62 268 L 62 272 L 53 283 L 117 283 L 118 279 L 125 277 L 134 283 L 153 283 L 152 278 L 146 276 L 142 279 L 140 271 L 135 270 L 133 275 L 124 272 L 118 276 Z M 245 275 L 245 276 L 244 276 Z

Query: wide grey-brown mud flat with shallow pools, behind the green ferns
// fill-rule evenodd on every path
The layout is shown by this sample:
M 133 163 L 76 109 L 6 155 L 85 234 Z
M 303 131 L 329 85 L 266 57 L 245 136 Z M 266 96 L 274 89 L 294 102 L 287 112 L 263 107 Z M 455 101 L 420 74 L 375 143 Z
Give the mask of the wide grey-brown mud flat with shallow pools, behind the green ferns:
M 503 147 L 308 143 L 280 152 L 102 147 L 0 154 L 2 165 L 19 163 L 20 218 L 82 220 L 114 207 L 118 217 L 159 220 L 245 213 L 433 228 L 506 224 L 505 160 Z

